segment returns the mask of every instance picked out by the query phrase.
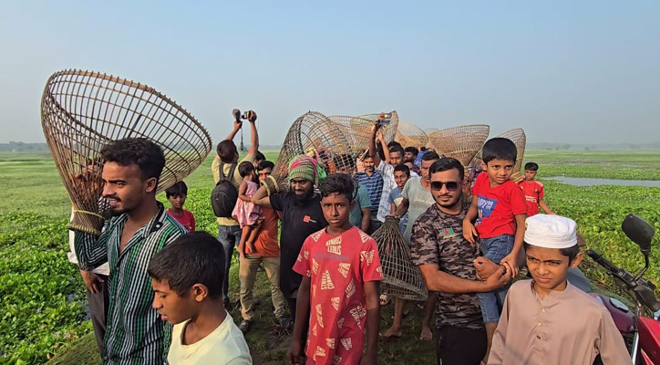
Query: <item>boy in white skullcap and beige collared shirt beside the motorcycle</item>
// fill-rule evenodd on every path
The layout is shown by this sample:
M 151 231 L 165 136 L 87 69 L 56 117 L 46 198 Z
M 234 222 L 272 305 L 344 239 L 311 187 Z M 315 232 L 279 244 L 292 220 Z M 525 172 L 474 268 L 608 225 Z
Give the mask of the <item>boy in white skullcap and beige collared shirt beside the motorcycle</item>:
M 510 287 L 489 364 L 632 364 L 610 313 L 566 281 L 582 254 L 575 222 L 558 215 L 527 219 L 525 253 L 533 280 Z

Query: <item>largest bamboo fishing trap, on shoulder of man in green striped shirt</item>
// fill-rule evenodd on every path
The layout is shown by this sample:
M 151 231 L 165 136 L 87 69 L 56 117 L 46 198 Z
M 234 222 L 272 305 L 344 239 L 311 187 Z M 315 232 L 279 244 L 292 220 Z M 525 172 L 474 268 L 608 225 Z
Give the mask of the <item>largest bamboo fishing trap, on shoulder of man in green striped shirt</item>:
M 157 192 L 183 180 L 211 151 L 211 136 L 167 96 L 146 85 L 94 71 L 69 69 L 46 81 L 41 123 L 74 206 L 68 228 L 100 234 L 101 150 L 110 141 L 146 138 L 165 154 Z

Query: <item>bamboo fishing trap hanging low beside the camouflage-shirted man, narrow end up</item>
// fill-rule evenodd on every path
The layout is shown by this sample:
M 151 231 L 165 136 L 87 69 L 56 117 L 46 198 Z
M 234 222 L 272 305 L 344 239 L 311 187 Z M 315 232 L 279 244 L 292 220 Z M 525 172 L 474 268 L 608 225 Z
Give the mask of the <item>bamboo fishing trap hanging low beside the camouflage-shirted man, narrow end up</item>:
M 412 223 L 410 223 L 412 224 Z M 372 237 L 378 246 L 383 282 L 380 291 L 407 300 L 427 300 L 428 289 L 419 267 L 412 263 L 410 248 L 401 235 L 398 221 L 387 216 Z

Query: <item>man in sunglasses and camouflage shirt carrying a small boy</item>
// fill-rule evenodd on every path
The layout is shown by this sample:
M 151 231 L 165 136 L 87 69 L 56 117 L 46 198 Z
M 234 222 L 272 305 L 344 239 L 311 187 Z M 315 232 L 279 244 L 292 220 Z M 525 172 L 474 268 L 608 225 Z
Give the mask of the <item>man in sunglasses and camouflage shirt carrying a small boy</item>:
M 476 279 L 473 261 L 479 248 L 463 237 L 463 218 L 469 203 L 462 200 L 463 165 L 443 157 L 428 170 L 434 204 L 412 227 L 413 263 L 421 269 L 436 302 L 436 356 L 438 364 L 479 365 L 486 354 L 486 329 L 476 293 L 489 292 L 510 282 L 499 267 L 486 281 Z

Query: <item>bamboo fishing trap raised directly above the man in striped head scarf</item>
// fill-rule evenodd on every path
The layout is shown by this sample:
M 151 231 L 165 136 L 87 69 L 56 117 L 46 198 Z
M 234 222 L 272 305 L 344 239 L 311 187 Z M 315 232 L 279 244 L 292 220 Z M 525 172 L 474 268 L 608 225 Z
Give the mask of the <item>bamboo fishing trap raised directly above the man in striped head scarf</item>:
M 318 111 L 308 111 L 289 128 L 271 179 L 264 182 L 271 193 L 289 189 L 289 163 L 305 154 L 320 162 L 328 173 L 355 165 L 356 153 L 345 132 Z

